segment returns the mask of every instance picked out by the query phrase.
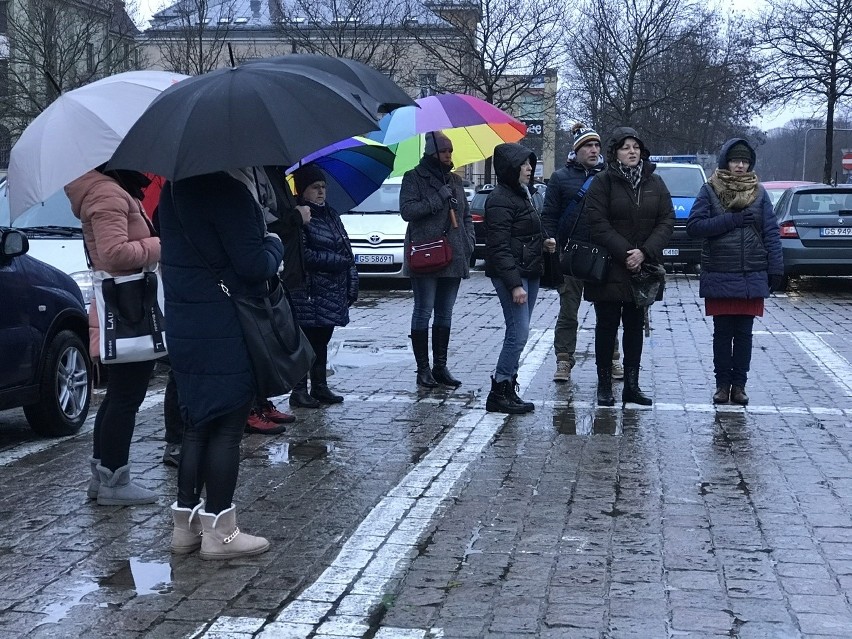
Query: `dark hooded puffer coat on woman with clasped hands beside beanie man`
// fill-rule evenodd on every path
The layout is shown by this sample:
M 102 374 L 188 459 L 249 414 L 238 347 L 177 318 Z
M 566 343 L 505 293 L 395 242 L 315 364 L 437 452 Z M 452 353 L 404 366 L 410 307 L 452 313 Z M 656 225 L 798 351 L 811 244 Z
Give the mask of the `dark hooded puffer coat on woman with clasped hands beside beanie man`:
M 588 217 L 591 239 L 612 255 L 607 281 L 587 282 L 584 297 L 590 302 L 631 302 L 627 251 L 639 248 L 645 259 L 659 263 L 674 229 L 672 197 L 662 178 L 654 175 L 655 165 L 646 159 L 638 191 L 621 176 L 613 164 L 599 173 L 585 197 L 583 214 Z

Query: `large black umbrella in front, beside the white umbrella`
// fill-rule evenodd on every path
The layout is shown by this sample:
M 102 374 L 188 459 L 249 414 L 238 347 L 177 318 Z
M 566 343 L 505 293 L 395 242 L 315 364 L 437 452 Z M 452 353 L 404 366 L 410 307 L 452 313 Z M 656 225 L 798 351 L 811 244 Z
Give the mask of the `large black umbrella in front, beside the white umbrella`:
M 255 63 L 211 71 L 163 91 L 108 168 L 180 180 L 245 166 L 290 166 L 379 128 L 361 93 L 320 70 Z

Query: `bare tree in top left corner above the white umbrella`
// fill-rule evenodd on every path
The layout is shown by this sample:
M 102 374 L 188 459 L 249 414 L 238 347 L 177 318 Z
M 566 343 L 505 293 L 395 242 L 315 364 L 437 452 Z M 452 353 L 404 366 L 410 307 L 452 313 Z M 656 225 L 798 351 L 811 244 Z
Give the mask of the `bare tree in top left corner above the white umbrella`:
M 10 3 L 7 32 L 0 112 L 12 137 L 61 93 L 139 66 L 138 30 L 113 0 Z

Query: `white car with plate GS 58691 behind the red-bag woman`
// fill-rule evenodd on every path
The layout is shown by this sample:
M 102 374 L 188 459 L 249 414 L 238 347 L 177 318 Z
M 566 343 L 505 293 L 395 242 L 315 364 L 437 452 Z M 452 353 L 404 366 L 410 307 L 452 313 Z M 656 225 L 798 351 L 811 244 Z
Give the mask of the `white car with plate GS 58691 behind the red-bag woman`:
M 360 277 L 405 277 L 402 265 L 407 223 L 399 214 L 401 188 L 401 177 L 388 178 L 361 204 L 341 211 Z

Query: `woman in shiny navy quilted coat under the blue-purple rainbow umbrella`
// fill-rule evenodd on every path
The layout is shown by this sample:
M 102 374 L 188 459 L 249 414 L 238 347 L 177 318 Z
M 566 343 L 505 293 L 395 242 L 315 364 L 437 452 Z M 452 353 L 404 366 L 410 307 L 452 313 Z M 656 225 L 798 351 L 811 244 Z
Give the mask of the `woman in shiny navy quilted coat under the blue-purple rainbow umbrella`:
M 328 343 L 335 326 L 349 323 L 349 307 L 358 299 L 358 271 L 349 236 L 340 215 L 325 203 L 325 174 L 315 164 L 293 173 L 299 204 L 311 209 L 304 229 L 305 284 L 290 291 L 296 319 L 316 353 L 308 378 L 290 393 L 290 406 L 319 408 L 337 404 L 343 397 L 331 391 L 326 381 Z

